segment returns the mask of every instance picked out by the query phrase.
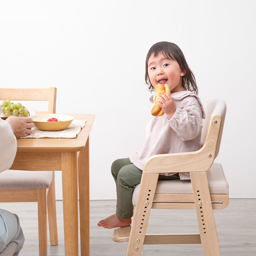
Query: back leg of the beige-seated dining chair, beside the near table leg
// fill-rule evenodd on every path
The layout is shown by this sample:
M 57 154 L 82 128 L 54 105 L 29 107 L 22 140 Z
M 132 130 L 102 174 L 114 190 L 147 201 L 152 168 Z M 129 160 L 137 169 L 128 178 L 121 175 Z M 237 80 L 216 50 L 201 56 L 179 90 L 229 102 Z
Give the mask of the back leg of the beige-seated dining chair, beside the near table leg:
M 47 195 L 47 210 L 49 223 L 50 245 L 58 244 L 57 218 L 56 218 L 56 199 L 55 199 L 55 182 L 54 171 L 52 174 L 52 183 Z

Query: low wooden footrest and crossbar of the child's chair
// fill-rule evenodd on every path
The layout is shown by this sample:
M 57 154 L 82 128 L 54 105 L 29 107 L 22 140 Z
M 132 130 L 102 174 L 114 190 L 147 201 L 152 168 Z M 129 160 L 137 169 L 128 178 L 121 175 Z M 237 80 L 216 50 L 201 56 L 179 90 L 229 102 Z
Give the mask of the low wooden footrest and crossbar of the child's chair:
M 128 242 L 131 226 L 114 229 L 114 242 Z M 148 234 L 143 244 L 201 244 L 199 234 Z

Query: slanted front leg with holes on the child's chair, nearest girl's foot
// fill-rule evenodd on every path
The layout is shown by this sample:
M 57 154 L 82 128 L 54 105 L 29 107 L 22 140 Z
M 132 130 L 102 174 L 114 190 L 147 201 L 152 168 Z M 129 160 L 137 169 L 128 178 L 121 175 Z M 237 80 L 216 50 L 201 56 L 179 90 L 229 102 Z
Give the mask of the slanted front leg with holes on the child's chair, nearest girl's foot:
M 158 174 L 142 174 L 126 256 L 140 256 L 157 186 Z

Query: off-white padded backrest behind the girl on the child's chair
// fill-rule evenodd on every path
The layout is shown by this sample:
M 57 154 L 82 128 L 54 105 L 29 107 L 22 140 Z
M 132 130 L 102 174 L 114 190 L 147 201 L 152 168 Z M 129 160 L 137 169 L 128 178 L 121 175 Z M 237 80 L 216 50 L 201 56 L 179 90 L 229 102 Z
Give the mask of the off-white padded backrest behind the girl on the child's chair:
M 219 153 L 219 146 L 221 144 L 221 137 L 223 131 L 224 120 L 226 116 L 226 103 L 222 99 L 212 99 L 205 103 L 204 111 L 206 113 L 206 118 L 203 119 L 203 128 L 202 128 L 202 136 L 201 136 L 201 145 L 203 146 L 206 140 L 207 130 L 209 126 L 209 121 L 211 119 L 212 114 L 219 114 L 221 116 L 221 127 L 219 130 L 219 137 L 216 147 L 215 157 L 217 157 Z

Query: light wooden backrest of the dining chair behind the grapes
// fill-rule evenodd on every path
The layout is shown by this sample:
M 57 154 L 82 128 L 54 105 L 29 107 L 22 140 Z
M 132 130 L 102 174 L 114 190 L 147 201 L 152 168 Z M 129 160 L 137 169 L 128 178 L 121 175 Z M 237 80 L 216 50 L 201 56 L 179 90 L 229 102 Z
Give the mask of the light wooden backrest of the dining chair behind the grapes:
M 56 93 L 55 87 L 44 89 L 9 89 L 0 88 L 0 98 L 10 99 L 11 101 L 48 101 L 48 111 L 41 113 L 56 112 Z

